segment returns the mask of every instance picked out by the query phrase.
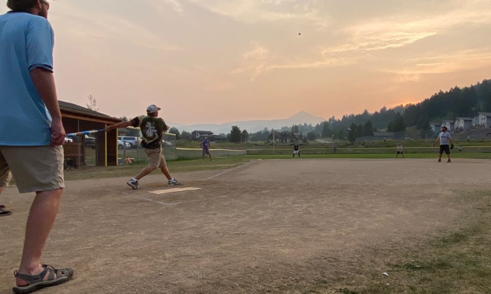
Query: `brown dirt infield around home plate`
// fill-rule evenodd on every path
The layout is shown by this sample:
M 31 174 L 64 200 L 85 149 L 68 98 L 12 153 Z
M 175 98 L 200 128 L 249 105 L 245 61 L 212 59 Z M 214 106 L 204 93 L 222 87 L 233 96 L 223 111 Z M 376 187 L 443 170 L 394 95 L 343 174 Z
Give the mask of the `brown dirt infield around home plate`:
M 290 159 L 175 174 L 69 181 L 43 261 L 74 279 L 38 293 L 335 293 L 370 264 L 463 224 L 462 190 L 489 189 L 490 161 Z M 223 173 L 224 172 L 224 173 Z M 222 173 L 222 174 L 220 174 Z M 0 293 L 10 293 L 32 194 L 4 190 Z M 375 252 L 375 253 L 374 253 Z

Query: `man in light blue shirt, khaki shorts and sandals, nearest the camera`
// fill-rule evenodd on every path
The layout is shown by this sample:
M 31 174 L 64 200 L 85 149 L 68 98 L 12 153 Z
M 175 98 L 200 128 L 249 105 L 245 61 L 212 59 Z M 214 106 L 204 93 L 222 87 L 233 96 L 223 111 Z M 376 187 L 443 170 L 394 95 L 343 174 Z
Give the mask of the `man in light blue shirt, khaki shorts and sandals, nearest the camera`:
M 12 172 L 20 193 L 35 192 L 14 293 L 68 281 L 71 268 L 41 263 L 63 191 L 65 130 L 53 77 L 54 33 L 47 0 L 7 0 L 0 16 L 0 192 Z M 8 265 L 7 265 L 8 266 Z

